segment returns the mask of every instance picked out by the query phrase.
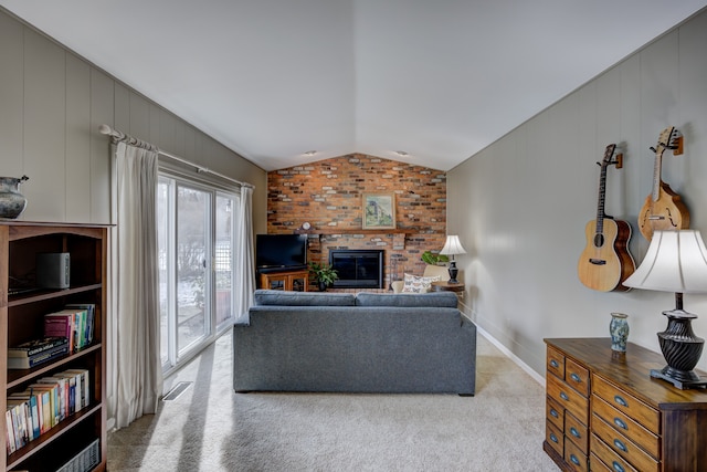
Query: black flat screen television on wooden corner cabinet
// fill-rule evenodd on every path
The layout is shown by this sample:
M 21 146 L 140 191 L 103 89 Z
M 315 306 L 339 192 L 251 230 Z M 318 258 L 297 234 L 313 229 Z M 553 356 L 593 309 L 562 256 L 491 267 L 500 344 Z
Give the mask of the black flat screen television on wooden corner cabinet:
M 307 235 L 256 234 L 255 265 L 261 272 L 306 268 Z

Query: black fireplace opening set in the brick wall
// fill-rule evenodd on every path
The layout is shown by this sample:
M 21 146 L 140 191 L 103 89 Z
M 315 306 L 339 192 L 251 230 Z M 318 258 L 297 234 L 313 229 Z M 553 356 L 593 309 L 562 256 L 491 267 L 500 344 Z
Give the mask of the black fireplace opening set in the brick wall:
M 329 265 L 339 276 L 335 289 L 383 289 L 383 250 L 331 250 Z

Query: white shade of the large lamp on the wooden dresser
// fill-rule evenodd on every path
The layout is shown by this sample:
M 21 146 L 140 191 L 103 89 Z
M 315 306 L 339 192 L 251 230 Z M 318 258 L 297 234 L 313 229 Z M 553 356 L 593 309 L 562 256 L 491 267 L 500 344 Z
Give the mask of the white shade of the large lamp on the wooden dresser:
M 655 231 L 626 286 L 676 293 L 707 292 L 707 249 L 699 231 Z

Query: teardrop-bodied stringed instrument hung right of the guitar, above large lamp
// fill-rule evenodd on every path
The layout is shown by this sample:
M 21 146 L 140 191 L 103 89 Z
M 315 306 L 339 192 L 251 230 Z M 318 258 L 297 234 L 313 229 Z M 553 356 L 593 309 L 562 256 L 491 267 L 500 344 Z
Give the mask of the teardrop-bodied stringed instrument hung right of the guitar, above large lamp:
M 683 154 L 683 137 L 671 126 L 658 137 L 658 144 L 651 148 L 655 153 L 653 168 L 653 191 L 646 197 L 639 213 L 639 230 L 648 241 L 656 230 L 684 230 L 689 228 L 689 212 L 680 200 L 680 196 L 661 179 L 663 153 L 671 149 L 673 155 Z

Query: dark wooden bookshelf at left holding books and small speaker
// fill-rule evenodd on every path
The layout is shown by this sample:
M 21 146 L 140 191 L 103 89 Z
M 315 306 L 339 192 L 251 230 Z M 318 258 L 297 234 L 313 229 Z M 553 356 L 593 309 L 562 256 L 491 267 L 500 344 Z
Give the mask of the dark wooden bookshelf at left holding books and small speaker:
M 106 254 L 107 227 L 0 221 L 0 395 L 2 412 L 10 394 L 67 369 L 89 371 L 88 406 L 11 454 L 0 454 L 0 471 L 56 470 L 98 441 L 97 465 L 106 469 Z M 36 289 L 36 254 L 68 252 L 68 289 Z M 18 293 L 19 292 L 19 293 Z M 95 305 L 93 342 L 31 369 L 8 369 L 8 347 L 43 336 L 48 313 L 66 304 Z M 0 442 L 7 443 L 4 417 Z M 94 444 L 95 445 L 95 444 Z

